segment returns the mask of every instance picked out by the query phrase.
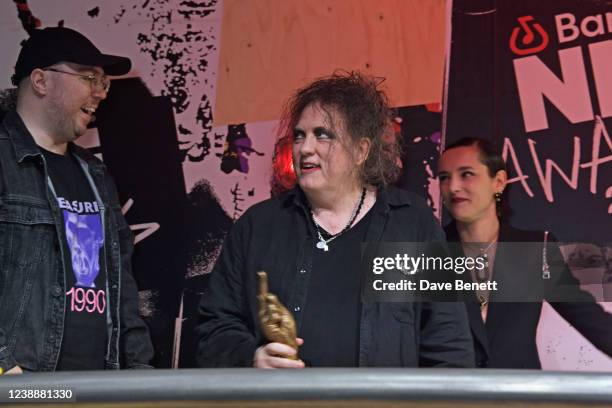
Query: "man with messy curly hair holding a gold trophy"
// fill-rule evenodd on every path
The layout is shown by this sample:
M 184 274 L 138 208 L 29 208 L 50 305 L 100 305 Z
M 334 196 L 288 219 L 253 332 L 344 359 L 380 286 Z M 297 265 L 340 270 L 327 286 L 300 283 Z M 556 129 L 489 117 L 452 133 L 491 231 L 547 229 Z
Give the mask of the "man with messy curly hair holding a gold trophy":
M 362 243 L 444 240 L 421 198 L 389 186 L 398 148 L 379 85 L 336 73 L 290 99 L 281 135 L 297 185 L 249 208 L 225 240 L 200 303 L 202 366 L 473 366 L 462 304 L 361 296 Z M 262 335 L 258 271 L 295 317 L 299 359 L 296 347 Z

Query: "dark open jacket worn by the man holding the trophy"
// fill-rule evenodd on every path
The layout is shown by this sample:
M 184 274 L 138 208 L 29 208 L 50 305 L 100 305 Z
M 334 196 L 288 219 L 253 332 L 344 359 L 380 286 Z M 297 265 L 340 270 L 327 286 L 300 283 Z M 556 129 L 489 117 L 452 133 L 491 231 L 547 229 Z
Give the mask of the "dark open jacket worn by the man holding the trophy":
M 381 189 L 367 242 L 444 241 L 420 197 Z M 252 366 L 266 340 L 257 316 L 256 272 L 268 272 L 270 290 L 293 310 L 296 324 L 307 301 L 315 249 L 314 227 L 299 188 L 249 208 L 236 222 L 199 305 L 198 362 L 204 367 Z M 357 249 L 346 256 L 360 256 Z M 316 298 L 316 294 L 311 294 Z M 361 367 L 473 367 L 465 308 L 453 302 L 370 302 L 361 308 Z

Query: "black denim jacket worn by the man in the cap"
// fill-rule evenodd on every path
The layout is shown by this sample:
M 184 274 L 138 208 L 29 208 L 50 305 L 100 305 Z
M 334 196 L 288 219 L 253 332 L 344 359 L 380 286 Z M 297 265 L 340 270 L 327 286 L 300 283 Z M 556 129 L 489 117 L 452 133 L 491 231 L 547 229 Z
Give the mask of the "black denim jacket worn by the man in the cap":
M 146 368 L 153 347 L 138 316 L 133 236 L 106 167 L 74 144 L 103 219 L 107 282 L 105 367 Z M 0 126 L 0 367 L 54 371 L 66 310 L 62 212 L 45 158 L 16 112 Z

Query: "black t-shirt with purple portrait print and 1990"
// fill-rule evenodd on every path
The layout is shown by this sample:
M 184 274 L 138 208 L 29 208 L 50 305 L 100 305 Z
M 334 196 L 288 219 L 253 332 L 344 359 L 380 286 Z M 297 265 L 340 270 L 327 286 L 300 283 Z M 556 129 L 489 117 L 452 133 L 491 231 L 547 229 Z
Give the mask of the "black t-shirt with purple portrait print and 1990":
M 72 154 L 41 151 L 63 216 L 66 316 L 57 370 L 104 369 L 106 275 L 98 203 Z

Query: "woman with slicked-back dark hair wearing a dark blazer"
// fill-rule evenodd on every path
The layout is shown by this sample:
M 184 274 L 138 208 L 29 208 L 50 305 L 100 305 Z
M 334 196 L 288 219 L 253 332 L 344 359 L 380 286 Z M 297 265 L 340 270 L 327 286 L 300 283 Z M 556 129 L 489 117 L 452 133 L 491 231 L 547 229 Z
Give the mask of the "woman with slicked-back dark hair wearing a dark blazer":
M 465 302 L 476 366 L 540 368 L 536 329 L 543 300 L 593 345 L 612 355 L 612 315 L 580 290 L 559 248 L 551 243 L 553 237 L 548 231 L 522 231 L 509 225 L 506 165 L 491 143 L 463 138 L 449 145 L 438 162 L 438 179 L 444 205 L 453 217 L 446 228 L 448 241 L 461 244 L 458 256 L 487 260 L 466 280 L 500 285 L 497 291 L 474 291 Z M 526 293 L 535 296 L 528 298 Z

